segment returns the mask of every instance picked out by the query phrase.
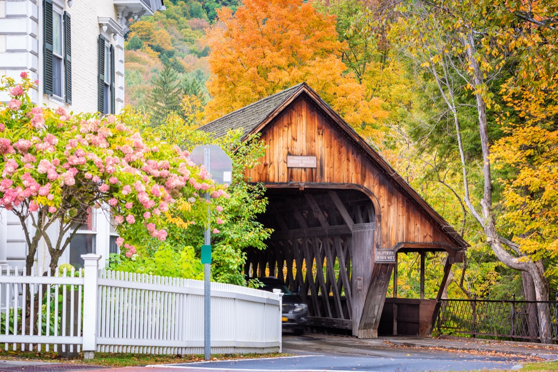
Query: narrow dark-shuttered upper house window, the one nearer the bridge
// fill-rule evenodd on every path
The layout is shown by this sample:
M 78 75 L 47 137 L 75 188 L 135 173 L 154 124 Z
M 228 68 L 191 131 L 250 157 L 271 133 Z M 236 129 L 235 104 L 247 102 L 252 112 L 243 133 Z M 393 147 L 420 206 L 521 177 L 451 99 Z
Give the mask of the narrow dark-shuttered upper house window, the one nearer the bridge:
M 115 114 L 114 102 L 114 47 L 99 35 L 99 112 Z

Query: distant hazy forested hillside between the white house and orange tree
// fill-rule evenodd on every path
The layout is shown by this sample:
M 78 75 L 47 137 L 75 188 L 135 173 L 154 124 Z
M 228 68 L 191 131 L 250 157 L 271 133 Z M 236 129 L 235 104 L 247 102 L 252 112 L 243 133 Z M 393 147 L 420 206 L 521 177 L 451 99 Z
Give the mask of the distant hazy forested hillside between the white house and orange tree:
M 235 9 L 237 1 L 174 0 L 165 6 L 165 11 L 133 22 L 126 35 L 126 103 L 145 108 L 158 122 L 180 107 L 182 95 L 196 96 L 202 105 L 208 100 L 204 30 L 215 20 L 216 9 Z M 161 99 L 164 107 L 157 105 Z

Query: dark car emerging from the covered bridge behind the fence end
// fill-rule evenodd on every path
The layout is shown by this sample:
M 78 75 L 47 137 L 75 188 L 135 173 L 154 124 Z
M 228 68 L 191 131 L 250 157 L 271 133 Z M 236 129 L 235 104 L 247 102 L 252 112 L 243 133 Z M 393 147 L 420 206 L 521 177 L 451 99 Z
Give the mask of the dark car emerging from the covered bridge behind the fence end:
M 273 292 L 273 289 L 281 289 L 283 292 L 283 329 L 293 330 L 297 335 L 304 334 L 308 321 L 308 306 L 302 302 L 300 294 L 292 293 L 278 278 L 265 277 L 258 278 L 258 280 L 263 283 L 263 287 L 259 289 L 268 292 Z

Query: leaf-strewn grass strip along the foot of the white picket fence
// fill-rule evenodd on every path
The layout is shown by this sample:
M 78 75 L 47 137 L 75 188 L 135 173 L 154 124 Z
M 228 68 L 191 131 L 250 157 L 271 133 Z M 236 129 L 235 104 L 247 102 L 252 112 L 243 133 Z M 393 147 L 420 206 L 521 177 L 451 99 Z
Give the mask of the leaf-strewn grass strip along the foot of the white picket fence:
M 211 360 L 254 359 L 261 357 L 287 356 L 274 352 L 271 354 L 212 354 Z M 89 364 L 107 367 L 142 366 L 148 364 L 176 364 L 204 361 L 203 355 L 161 355 L 161 354 L 126 354 L 95 352 L 94 359 L 84 360 L 83 353 L 76 359 L 62 358 L 53 351 L 4 351 L 0 349 L 0 359 L 20 361 L 44 361 L 51 363 Z

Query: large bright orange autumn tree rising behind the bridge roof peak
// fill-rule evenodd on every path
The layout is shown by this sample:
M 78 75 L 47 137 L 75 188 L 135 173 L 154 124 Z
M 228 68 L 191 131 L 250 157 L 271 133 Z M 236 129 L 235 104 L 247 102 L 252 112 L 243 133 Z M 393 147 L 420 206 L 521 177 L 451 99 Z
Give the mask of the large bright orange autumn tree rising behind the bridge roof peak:
M 387 112 L 347 74 L 333 16 L 302 0 L 245 0 L 234 15 L 220 9 L 217 20 L 208 32 L 208 120 L 306 81 L 362 136 L 381 142 Z

